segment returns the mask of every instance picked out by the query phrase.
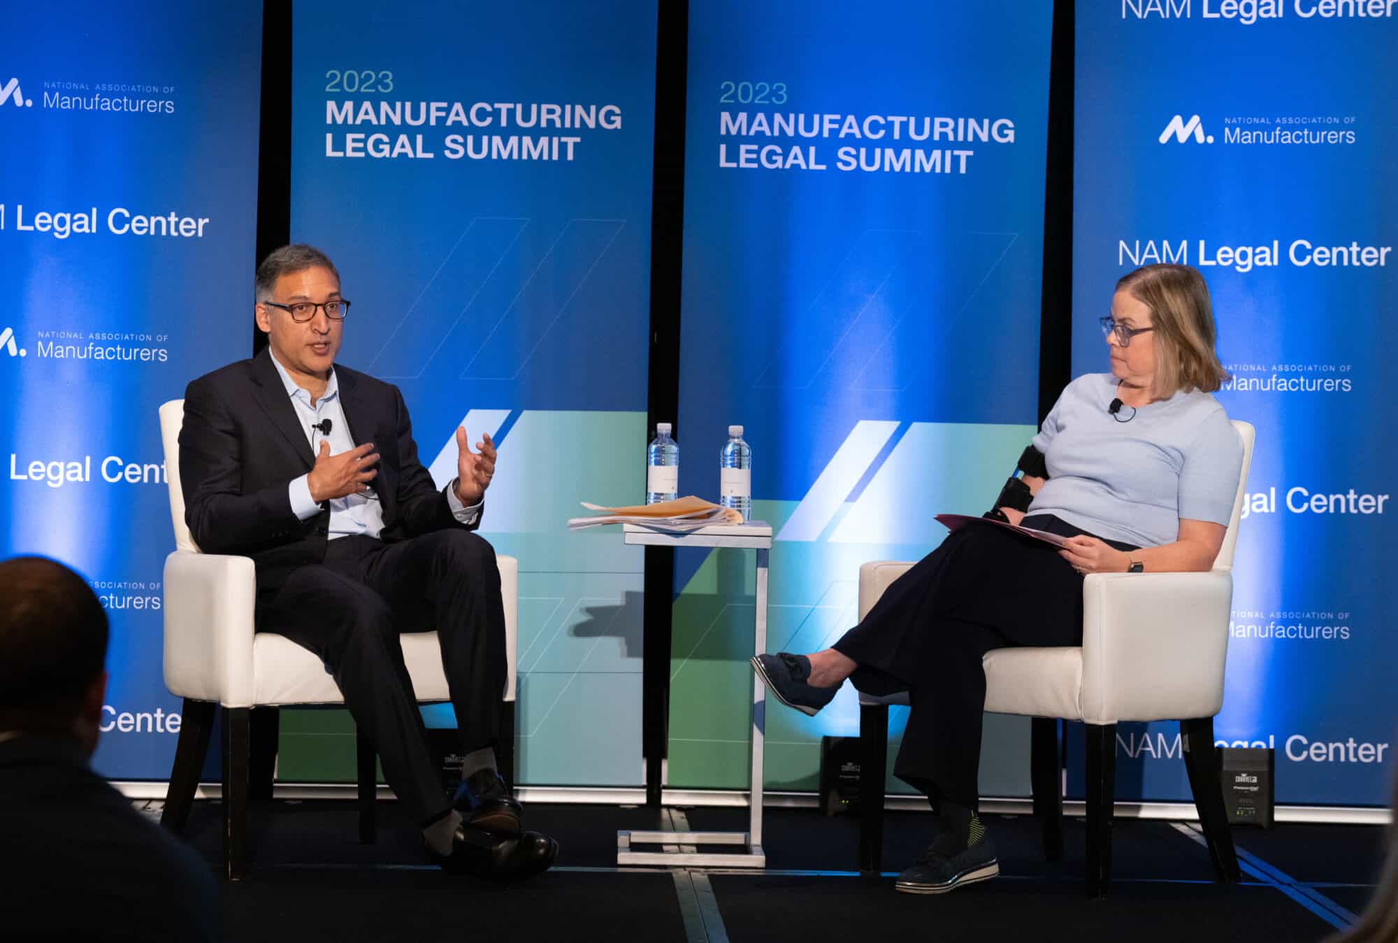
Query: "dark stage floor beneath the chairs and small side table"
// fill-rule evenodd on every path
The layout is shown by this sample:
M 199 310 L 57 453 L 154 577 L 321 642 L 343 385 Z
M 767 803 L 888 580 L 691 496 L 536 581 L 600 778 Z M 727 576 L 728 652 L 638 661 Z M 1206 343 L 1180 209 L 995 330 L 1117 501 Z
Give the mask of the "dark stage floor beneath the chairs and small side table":
M 1001 877 L 952 894 L 896 894 L 892 872 L 934 818 L 889 813 L 881 879 L 853 873 L 851 818 L 769 809 L 765 873 L 617 870 L 618 828 L 665 828 L 665 813 L 531 804 L 527 823 L 562 844 L 558 867 L 496 887 L 426 866 L 418 837 L 380 803 L 376 845 L 356 842 L 348 802 L 254 803 L 250 872 L 225 894 L 231 942 L 257 940 L 1320 940 L 1363 908 L 1384 830 L 1278 825 L 1234 831 L 1244 881 L 1212 881 L 1187 825 L 1118 820 L 1114 883 L 1083 898 L 1083 830 L 1067 820 L 1065 860 L 1048 865 L 1037 823 L 990 816 Z M 685 809 L 695 830 L 741 830 L 740 809 Z M 189 838 L 215 862 L 218 803 L 196 804 Z M 710 897 L 712 894 L 712 897 Z

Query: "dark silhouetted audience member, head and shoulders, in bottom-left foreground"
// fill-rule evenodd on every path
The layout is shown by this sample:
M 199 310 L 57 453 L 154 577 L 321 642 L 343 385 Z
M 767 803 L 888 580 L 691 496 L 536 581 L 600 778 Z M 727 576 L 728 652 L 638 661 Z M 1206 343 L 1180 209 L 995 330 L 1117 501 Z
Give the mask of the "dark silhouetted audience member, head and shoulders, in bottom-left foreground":
M 0 562 L 0 937 L 221 940 L 207 862 L 88 768 L 106 613 L 52 560 Z

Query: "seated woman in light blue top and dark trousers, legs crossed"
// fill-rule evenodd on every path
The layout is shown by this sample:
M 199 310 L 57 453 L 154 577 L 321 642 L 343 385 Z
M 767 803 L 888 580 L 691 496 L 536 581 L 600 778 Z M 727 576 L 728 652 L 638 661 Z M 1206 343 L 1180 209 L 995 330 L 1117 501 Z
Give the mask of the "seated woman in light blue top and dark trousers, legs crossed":
M 1028 511 L 995 515 L 1067 537 L 1061 550 L 962 527 L 833 648 L 754 659 L 773 694 L 807 714 L 846 679 L 871 694 L 909 691 L 893 771 L 939 800 L 941 817 L 900 891 L 937 894 L 1000 873 L 976 814 L 981 656 L 1081 645 L 1086 574 L 1204 571 L 1223 546 L 1243 444 L 1211 396 L 1227 374 L 1204 277 L 1188 266 L 1137 269 L 1117 283 L 1102 329 L 1111 372 L 1064 389 L 1021 458 Z

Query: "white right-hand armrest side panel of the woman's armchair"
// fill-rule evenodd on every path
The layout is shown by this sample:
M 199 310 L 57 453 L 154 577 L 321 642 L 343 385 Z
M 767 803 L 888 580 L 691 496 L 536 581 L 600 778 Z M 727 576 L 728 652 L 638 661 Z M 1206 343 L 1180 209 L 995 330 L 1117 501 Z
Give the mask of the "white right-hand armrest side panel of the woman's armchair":
M 1082 583 L 1082 718 L 1208 718 L 1223 707 L 1227 571 L 1092 574 Z

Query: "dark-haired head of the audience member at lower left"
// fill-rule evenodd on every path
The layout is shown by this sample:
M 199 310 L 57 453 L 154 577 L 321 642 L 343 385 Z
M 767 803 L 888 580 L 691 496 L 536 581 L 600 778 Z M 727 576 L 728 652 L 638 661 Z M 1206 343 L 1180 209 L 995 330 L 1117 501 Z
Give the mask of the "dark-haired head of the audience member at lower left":
M 106 693 L 106 611 L 75 572 L 43 557 L 0 562 L 0 732 L 96 747 Z

